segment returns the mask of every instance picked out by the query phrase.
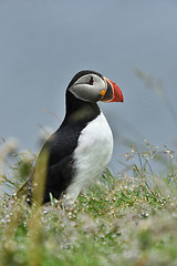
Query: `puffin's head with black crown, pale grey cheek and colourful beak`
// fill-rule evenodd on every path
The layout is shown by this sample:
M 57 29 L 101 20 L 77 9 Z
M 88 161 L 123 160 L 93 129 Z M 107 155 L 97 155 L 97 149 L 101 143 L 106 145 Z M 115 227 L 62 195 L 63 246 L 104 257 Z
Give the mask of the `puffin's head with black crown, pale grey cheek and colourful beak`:
M 102 74 L 84 70 L 71 80 L 67 91 L 75 98 L 86 102 L 123 102 L 121 89 Z

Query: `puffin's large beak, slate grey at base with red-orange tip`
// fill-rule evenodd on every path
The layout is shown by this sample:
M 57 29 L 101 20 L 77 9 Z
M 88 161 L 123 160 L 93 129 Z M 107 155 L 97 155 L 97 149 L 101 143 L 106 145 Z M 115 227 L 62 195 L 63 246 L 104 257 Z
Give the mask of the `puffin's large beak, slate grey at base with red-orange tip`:
M 104 78 L 106 83 L 106 92 L 102 98 L 102 102 L 124 102 L 123 93 L 121 89 L 107 78 Z

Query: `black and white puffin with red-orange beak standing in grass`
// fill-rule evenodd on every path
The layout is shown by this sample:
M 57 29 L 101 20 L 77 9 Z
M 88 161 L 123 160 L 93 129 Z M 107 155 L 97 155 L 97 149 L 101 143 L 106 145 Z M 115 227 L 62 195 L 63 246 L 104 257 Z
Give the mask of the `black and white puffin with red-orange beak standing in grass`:
M 113 152 L 112 130 L 97 102 L 123 102 L 121 89 L 101 73 L 76 73 L 65 92 L 65 116 L 46 140 L 31 177 L 17 193 L 30 204 L 52 198 L 74 202 L 107 167 Z

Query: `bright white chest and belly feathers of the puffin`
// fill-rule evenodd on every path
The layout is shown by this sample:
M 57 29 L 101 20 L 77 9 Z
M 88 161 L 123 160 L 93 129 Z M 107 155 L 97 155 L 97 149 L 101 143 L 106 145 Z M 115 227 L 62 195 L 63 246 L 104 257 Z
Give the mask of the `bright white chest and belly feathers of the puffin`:
M 92 184 L 107 166 L 113 152 L 113 135 L 101 113 L 81 132 L 74 152 L 75 177 L 67 194 L 75 200 L 83 187 Z

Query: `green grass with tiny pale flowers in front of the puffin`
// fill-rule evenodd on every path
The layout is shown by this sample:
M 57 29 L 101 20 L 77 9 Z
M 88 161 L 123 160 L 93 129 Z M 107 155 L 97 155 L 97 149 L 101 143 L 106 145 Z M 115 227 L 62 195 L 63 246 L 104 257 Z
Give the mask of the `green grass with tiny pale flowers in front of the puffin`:
M 29 208 L 3 194 L 0 266 L 177 265 L 177 158 L 147 142 L 145 151 L 132 149 L 125 158 L 122 174 L 107 170 L 70 209 L 54 200 Z M 162 174 L 152 160 L 163 162 Z M 12 182 L 3 175 L 2 182 L 12 190 L 30 168 L 18 155 Z

